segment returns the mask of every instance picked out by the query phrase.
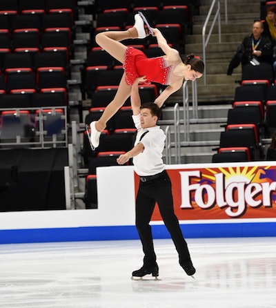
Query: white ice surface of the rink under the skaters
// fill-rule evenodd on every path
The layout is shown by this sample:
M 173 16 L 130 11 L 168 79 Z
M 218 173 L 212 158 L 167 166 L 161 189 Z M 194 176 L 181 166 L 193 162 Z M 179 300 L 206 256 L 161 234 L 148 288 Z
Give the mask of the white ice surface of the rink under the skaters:
M 3 244 L 0 307 L 276 307 L 276 238 L 188 239 L 195 279 L 155 240 L 159 280 L 131 280 L 138 240 Z

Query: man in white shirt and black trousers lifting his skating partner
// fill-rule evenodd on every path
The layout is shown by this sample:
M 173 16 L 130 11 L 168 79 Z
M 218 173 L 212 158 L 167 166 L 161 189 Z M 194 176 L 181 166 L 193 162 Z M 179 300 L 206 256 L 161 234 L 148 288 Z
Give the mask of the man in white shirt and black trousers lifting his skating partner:
M 132 272 L 132 277 L 143 277 L 147 274 L 152 274 L 155 278 L 159 276 L 149 224 L 155 202 L 159 206 L 161 217 L 179 254 L 179 264 L 188 276 L 192 276 L 195 273 L 195 267 L 173 209 L 170 177 L 162 160 L 166 136 L 160 126 L 157 126 L 161 110 L 153 102 L 141 106 L 138 84 L 145 79 L 145 76 L 135 79 L 130 93 L 132 119 L 137 128 L 135 146 L 117 158 L 118 164 L 125 164 L 133 158 L 135 172 L 140 177 L 135 206 L 135 224 L 144 251 L 144 264 L 141 269 Z

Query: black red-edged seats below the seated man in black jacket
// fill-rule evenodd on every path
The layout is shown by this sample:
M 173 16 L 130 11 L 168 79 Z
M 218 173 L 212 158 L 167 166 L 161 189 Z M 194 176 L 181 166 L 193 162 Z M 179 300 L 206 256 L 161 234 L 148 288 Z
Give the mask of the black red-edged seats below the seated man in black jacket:
M 270 64 L 242 68 L 242 81 L 235 89 L 233 108 L 228 110 L 213 162 L 263 160 L 262 137 L 276 128 L 276 86 Z

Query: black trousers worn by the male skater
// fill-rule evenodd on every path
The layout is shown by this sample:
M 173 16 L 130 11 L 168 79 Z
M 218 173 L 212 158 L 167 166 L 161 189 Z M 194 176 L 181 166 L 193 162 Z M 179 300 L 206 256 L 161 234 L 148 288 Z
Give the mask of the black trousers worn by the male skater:
M 139 183 L 136 198 L 136 227 L 144 251 L 144 265 L 155 266 L 156 255 L 152 241 L 152 230 L 150 218 L 155 208 L 155 202 L 159 206 L 161 217 L 168 229 L 175 248 L 179 254 L 179 263 L 190 263 L 190 253 L 186 240 L 179 227 L 179 221 L 175 215 L 172 201 L 172 184 L 166 171 L 161 173 L 157 179 Z

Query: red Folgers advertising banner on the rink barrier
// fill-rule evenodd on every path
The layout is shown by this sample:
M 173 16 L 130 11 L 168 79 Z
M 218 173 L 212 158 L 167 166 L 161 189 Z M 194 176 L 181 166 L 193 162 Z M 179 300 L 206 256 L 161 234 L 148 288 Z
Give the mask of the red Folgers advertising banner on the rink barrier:
M 276 218 L 276 166 L 173 169 L 168 174 L 179 220 Z M 152 220 L 161 220 L 158 206 Z

